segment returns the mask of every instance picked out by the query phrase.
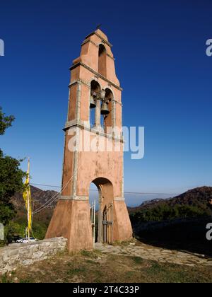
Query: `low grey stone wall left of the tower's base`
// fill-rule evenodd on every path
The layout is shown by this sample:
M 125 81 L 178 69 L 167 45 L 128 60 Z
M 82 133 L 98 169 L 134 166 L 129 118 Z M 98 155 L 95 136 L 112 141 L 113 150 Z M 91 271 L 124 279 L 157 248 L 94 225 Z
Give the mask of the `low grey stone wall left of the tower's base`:
M 67 239 L 58 237 L 35 243 L 13 243 L 0 248 L 0 274 L 21 265 L 30 265 L 66 250 Z

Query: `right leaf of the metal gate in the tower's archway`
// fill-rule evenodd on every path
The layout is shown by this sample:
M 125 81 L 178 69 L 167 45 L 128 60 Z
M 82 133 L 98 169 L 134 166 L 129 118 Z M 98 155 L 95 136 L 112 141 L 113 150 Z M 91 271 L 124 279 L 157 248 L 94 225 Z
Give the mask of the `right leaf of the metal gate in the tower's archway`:
M 102 212 L 102 243 L 113 242 L 113 206 L 112 203 L 105 206 Z

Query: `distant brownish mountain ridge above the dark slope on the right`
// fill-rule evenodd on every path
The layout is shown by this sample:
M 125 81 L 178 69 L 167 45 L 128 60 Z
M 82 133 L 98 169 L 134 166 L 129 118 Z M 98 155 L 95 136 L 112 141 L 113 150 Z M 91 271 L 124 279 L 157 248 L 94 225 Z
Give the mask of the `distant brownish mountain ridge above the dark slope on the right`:
M 209 199 L 212 198 L 212 187 L 196 187 L 195 189 L 189 190 L 180 194 L 176 197 L 169 199 L 153 199 L 148 202 L 143 202 L 140 206 L 130 207 L 129 213 L 141 211 L 144 209 L 152 209 L 155 206 L 161 204 L 167 204 L 169 206 L 179 205 L 190 205 L 196 206 L 199 209 L 210 210 Z

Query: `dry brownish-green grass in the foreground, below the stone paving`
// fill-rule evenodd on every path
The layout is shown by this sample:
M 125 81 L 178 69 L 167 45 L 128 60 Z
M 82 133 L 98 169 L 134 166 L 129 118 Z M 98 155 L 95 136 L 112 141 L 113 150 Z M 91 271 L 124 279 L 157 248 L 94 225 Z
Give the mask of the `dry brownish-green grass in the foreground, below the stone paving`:
M 186 267 L 143 260 L 141 257 L 102 254 L 100 251 L 68 252 L 21 267 L 0 277 L 1 283 L 19 282 L 211 282 L 211 267 Z

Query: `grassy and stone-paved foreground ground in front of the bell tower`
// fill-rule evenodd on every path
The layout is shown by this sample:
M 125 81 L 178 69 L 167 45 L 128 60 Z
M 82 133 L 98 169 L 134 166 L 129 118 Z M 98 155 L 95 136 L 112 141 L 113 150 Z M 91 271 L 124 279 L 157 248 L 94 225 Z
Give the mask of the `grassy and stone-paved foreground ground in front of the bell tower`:
M 99 245 L 92 252 L 62 252 L 0 276 L 0 282 L 208 282 L 212 261 L 203 255 L 154 248 L 134 241 Z

